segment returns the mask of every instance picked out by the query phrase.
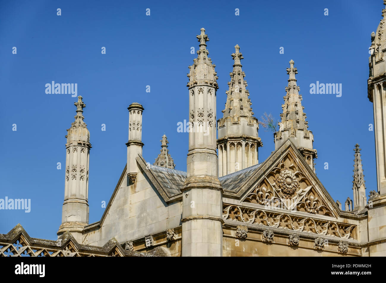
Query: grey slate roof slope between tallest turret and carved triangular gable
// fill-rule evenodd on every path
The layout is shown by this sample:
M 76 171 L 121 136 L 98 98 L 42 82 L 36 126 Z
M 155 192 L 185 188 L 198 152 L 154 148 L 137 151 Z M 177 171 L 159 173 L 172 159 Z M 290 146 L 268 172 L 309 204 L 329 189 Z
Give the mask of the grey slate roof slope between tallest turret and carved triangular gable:
M 222 189 L 227 192 L 237 193 L 242 185 L 252 177 L 261 164 L 262 163 L 259 163 L 218 178 Z

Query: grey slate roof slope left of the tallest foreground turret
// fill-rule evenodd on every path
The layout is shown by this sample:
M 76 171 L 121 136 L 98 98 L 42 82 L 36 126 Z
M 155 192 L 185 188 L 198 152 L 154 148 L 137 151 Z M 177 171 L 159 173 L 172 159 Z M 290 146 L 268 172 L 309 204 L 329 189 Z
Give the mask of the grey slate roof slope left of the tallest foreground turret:
M 186 172 L 156 165 L 147 165 L 157 181 L 161 184 L 169 198 L 181 194 Z

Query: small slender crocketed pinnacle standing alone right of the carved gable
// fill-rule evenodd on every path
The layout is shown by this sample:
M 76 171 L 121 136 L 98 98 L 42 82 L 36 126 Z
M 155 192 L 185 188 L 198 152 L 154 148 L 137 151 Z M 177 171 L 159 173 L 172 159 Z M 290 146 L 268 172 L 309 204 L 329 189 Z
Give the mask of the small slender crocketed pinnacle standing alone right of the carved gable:
M 362 159 L 361 159 L 361 151 L 359 148 L 359 144 L 355 145 L 355 159 L 354 159 L 354 175 L 352 176 L 354 180 L 352 181 L 352 189 L 354 190 L 354 211 L 364 209 L 366 205 L 366 193 L 365 193 L 365 181 L 364 174 L 362 169 Z

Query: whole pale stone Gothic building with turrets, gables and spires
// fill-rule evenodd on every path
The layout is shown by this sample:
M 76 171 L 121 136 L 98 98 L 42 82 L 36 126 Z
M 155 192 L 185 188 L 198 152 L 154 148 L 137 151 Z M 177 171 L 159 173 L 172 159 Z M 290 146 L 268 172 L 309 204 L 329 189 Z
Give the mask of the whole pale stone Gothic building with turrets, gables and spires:
M 385 1 L 386 2 L 386 1 Z M 386 3 L 385 3 L 386 4 Z M 315 174 L 293 60 L 275 150 L 262 141 L 242 71 L 239 45 L 222 117 L 216 115 L 215 65 L 208 35 L 197 35 L 189 67 L 186 172 L 175 170 L 166 135 L 154 164 L 142 157 L 142 113 L 132 103 L 125 164 L 100 221 L 88 223 L 90 133 L 82 97 L 67 130 L 62 223 L 58 240 L 31 238 L 20 224 L 0 234 L 0 256 L 386 256 L 386 10 L 371 34 L 368 98 L 374 105 L 378 190 L 366 197 L 355 145 L 353 199 L 344 208 Z M 217 127 L 216 127 L 217 126 Z M 218 137 L 216 138 L 218 134 Z

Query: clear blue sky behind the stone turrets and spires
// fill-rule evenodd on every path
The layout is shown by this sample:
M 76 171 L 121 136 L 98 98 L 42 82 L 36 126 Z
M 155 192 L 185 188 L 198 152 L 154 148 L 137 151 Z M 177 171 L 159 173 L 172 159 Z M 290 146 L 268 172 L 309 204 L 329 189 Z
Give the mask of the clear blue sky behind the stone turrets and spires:
M 61 16 L 56 9 L 61 8 Z M 146 16 L 150 8 L 150 16 Z M 235 15 L 239 8 L 240 15 Z M 324 9 L 328 8 L 328 16 Z M 255 117 L 281 113 L 289 60 L 295 61 L 309 129 L 318 151 L 316 172 L 344 203 L 352 198 L 354 145 L 362 148 L 366 194 L 376 190 L 372 103 L 367 99 L 368 48 L 384 8 L 374 1 L 1 1 L 0 198 L 31 199 L 31 211 L 0 210 L 0 233 L 17 223 L 30 236 L 56 239 L 64 198 L 65 135 L 74 121 L 70 94 L 46 94 L 45 84 L 77 83 L 87 105 L 90 223 L 103 213 L 126 163 L 132 102 L 141 103 L 143 156 L 154 162 L 165 133 L 176 169 L 186 171 L 188 65 L 204 27 L 218 74 L 221 117 L 240 45 Z M 12 54 L 17 47 L 17 54 Z M 101 48 L 106 47 L 106 54 Z M 284 54 L 279 48 L 284 47 Z M 342 97 L 310 94 L 310 84 L 342 84 Z M 151 92 L 146 92 L 146 85 Z M 17 131 L 12 131 L 12 124 Z M 106 125 L 106 131 L 101 125 Z M 260 127 L 259 162 L 274 150 Z M 62 169 L 57 169 L 61 162 Z M 328 162 L 328 170 L 323 169 Z

